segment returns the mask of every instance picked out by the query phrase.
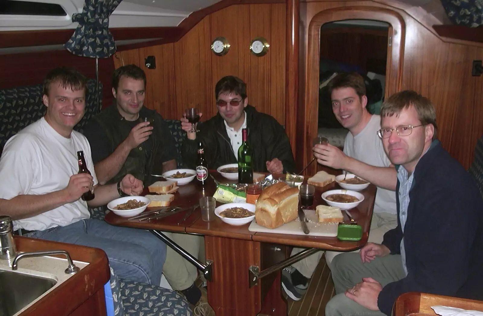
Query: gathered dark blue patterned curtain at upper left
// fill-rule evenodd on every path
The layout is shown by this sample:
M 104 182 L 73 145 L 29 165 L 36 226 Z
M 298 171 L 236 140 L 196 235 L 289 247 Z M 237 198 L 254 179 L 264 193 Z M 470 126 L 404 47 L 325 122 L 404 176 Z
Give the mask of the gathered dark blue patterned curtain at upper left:
M 65 48 L 83 57 L 107 58 L 116 52 L 114 38 L 109 31 L 109 15 L 121 0 L 85 0 L 82 13 L 72 14 L 72 22 L 78 22 Z

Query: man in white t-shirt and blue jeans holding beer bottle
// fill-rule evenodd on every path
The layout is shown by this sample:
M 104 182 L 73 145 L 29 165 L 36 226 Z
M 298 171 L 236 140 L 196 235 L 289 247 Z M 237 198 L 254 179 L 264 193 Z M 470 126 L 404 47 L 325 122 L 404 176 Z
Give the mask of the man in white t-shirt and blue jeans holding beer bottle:
M 14 219 L 17 235 L 101 248 L 119 277 L 159 285 L 165 244 L 145 230 L 89 218 L 87 206 L 139 195 L 143 186 L 131 174 L 117 184 L 98 184 L 89 143 L 72 130 L 84 115 L 85 84 L 84 75 L 71 68 L 47 74 L 45 116 L 13 136 L 0 158 L 1 213 Z M 92 175 L 77 173 L 78 151 Z M 85 202 L 81 197 L 89 190 L 95 198 Z

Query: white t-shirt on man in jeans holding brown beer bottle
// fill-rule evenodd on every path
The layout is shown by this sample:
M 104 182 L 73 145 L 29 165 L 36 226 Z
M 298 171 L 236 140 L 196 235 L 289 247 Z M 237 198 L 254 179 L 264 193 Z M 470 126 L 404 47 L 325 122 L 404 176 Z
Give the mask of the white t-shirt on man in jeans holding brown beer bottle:
M 90 145 L 84 135 L 72 131 L 61 136 L 44 118 L 22 129 L 3 149 L 0 158 L 0 198 L 42 195 L 64 189 L 71 175 L 79 172 L 77 151 L 84 151 L 85 163 L 97 184 Z M 46 230 L 89 218 L 87 203 L 79 199 L 42 214 L 15 220 L 14 230 Z

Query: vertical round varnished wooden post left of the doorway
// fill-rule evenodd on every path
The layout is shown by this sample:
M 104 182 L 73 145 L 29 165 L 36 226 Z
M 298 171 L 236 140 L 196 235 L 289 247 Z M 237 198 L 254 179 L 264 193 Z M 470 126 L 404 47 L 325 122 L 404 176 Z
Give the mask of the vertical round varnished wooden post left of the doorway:
M 300 23 L 299 0 L 287 0 L 286 19 L 286 77 L 285 77 L 285 132 L 290 140 L 292 153 L 297 156 L 298 109 L 298 26 Z

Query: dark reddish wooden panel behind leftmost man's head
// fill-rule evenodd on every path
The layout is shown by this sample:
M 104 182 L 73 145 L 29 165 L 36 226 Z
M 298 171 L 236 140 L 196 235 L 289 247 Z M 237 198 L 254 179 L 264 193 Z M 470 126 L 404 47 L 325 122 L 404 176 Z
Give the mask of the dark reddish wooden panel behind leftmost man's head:
M 96 78 L 94 58 L 72 55 L 66 50 L 26 54 L 0 55 L 0 89 L 38 85 L 49 70 L 70 66 L 88 78 Z M 114 72 L 113 58 L 99 59 L 99 80 L 102 83 L 102 104 L 111 104 L 111 76 Z

